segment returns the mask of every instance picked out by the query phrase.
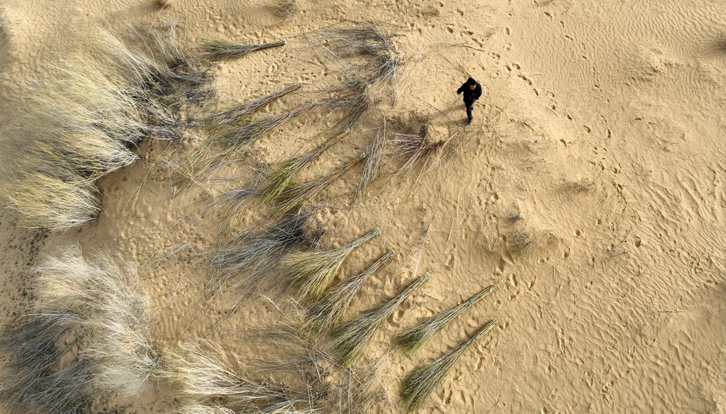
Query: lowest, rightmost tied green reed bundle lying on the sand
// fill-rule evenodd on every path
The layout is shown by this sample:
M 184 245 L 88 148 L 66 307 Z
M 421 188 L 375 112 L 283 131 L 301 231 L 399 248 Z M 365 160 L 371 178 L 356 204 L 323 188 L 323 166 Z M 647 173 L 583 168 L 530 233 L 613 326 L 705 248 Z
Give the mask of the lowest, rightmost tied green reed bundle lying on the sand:
M 423 403 L 431 395 L 434 389 L 444 380 L 446 373 L 456 364 L 459 358 L 472 346 L 478 338 L 489 332 L 499 321 L 492 320 L 478 330 L 474 336 L 468 341 L 449 349 L 448 352 L 441 355 L 431 362 L 419 365 L 412 370 L 404 381 L 401 382 L 401 397 L 404 399 L 404 409 L 406 413 L 413 413 L 423 407 Z

